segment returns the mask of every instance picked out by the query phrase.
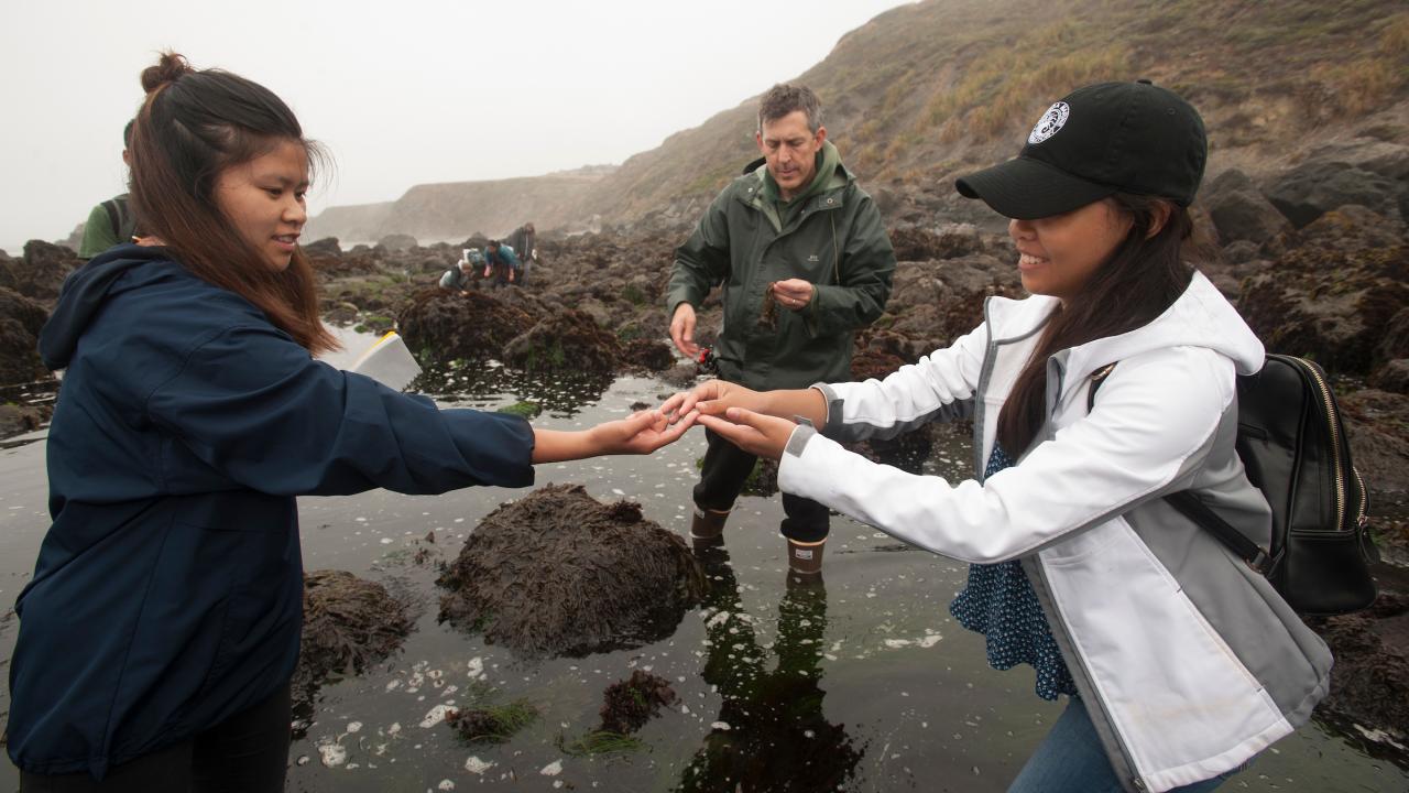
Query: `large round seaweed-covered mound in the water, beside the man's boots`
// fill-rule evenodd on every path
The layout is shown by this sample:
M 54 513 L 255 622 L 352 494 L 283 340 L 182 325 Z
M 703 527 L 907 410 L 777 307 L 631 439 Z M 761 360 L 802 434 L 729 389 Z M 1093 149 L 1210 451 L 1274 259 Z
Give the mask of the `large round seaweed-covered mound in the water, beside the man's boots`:
M 685 542 L 630 501 L 547 485 L 495 509 L 438 581 L 441 621 L 523 656 L 581 656 L 671 635 L 704 591 Z

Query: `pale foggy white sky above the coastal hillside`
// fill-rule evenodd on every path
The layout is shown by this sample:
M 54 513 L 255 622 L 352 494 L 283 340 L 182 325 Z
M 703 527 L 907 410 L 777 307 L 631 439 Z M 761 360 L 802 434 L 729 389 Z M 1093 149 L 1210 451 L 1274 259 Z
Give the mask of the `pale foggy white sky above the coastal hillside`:
M 310 193 L 317 214 L 416 183 L 619 164 L 900 4 L 6 1 L 0 248 L 68 237 L 123 192 L 123 124 L 159 49 L 289 103 L 335 164 Z

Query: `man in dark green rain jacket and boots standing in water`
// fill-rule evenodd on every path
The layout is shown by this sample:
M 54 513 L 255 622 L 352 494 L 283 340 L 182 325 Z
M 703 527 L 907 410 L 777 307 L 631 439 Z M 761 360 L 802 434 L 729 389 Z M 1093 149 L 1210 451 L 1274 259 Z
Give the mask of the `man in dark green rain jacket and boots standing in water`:
M 723 380 L 755 389 L 851 380 L 855 332 L 890 296 L 895 254 L 881 213 L 827 141 L 812 90 L 771 87 L 755 140 L 762 162 L 724 188 L 675 251 L 671 339 L 699 356 L 695 309 L 721 285 L 724 327 L 713 354 Z M 697 543 L 717 542 L 755 460 L 706 435 L 690 526 Z M 783 511 L 789 567 L 819 571 L 827 508 L 783 494 Z

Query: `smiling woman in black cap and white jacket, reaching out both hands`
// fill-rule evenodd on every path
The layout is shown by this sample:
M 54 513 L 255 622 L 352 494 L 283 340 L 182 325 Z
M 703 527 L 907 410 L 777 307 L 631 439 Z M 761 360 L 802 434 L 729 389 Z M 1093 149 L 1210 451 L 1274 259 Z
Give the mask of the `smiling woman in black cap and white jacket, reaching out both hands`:
M 1030 663 L 1040 696 L 1071 697 L 1013 792 L 1212 790 L 1327 690 L 1326 645 L 1162 500 L 1193 490 L 1270 539 L 1234 452 L 1234 378 L 1262 346 L 1184 258 L 1206 151 L 1169 90 L 1078 89 L 1016 159 L 957 183 L 1012 219 L 1030 298 L 989 299 L 978 329 L 883 381 L 713 381 L 664 406 L 699 404 L 700 423 L 779 459 L 783 491 L 971 563 L 951 611 L 993 666 Z M 957 484 L 837 443 L 954 419 L 974 420 L 976 453 Z

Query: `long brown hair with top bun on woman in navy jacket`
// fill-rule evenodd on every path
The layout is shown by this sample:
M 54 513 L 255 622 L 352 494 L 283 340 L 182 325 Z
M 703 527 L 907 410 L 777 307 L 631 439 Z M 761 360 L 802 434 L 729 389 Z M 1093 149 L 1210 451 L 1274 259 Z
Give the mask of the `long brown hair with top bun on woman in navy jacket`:
M 142 71 L 147 99 L 131 143 L 132 209 L 144 233 L 158 237 L 197 278 L 258 306 L 276 327 L 310 353 L 335 350 L 318 319 L 313 267 L 296 248 L 289 267 L 271 270 L 214 199 L 220 174 L 285 141 L 323 158 L 303 138 L 299 120 L 269 89 L 220 69 L 194 71 L 163 52 Z

